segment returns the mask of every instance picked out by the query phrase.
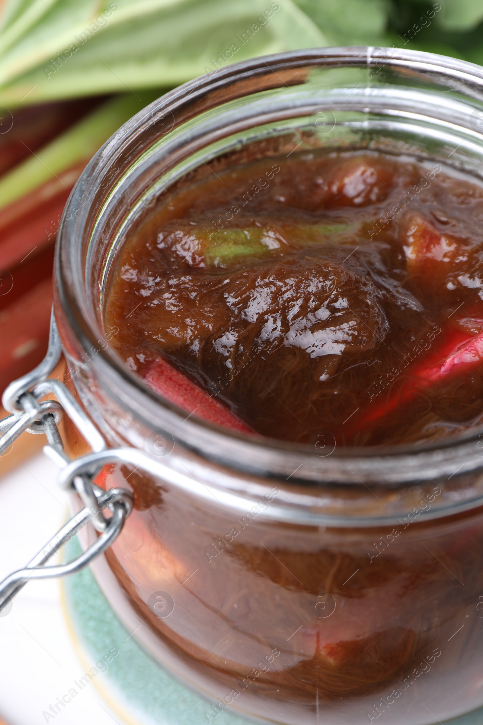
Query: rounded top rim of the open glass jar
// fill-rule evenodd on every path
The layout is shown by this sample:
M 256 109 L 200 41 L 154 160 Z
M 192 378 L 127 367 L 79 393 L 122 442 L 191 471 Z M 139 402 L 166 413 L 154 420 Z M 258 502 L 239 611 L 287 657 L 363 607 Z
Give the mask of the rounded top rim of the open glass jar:
M 93 212 L 105 201 L 99 188 L 104 176 L 112 168 L 112 159 L 119 158 L 121 153 L 130 152 L 138 138 L 141 138 L 142 143 L 146 129 L 156 124 L 156 120 L 159 122 L 159 119 L 172 114 L 173 127 L 176 127 L 176 115 L 182 116 L 183 123 L 187 117 L 196 117 L 197 108 L 206 109 L 207 97 L 211 98 L 211 104 L 215 104 L 217 99 L 223 103 L 227 98 L 243 97 L 243 88 L 255 93 L 257 82 L 259 88 L 270 87 L 267 80 L 270 74 L 272 88 L 286 86 L 286 81 L 280 78 L 282 70 L 293 73 L 306 67 L 351 66 L 369 69 L 381 64 L 410 70 L 421 77 L 439 77 L 443 85 L 445 80 L 459 83 L 458 88 L 464 88 L 468 98 L 474 99 L 475 108 L 480 103 L 483 109 L 483 68 L 478 65 L 423 51 L 348 46 L 289 51 L 227 65 L 169 91 L 122 125 L 91 159 L 64 208 L 56 242 L 54 285 L 56 315 L 64 319 L 59 324 L 61 336 L 62 327 L 69 326 L 80 349 L 89 349 L 88 346 L 96 345 L 104 336 L 98 320 L 93 317 L 85 280 L 80 281 L 81 270 L 75 269 L 81 259 L 78 255 L 79 246 L 86 234 L 92 231 Z M 257 81 L 257 78 L 261 80 Z M 303 83 L 303 80 L 300 82 Z M 163 133 L 159 134 L 161 136 Z M 139 153 L 143 151 L 144 147 Z M 93 254 L 93 250 L 88 245 L 81 262 L 85 262 L 89 254 Z M 78 351 L 66 352 L 67 355 L 78 354 Z M 99 349 L 98 354 L 89 360 L 89 365 L 96 369 L 104 381 L 109 378 L 121 396 L 122 404 L 135 411 L 135 415 L 140 415 L 143 421 L 150 421 L 151 425 L 157 421 L 161 428 L 167 430 L 171 424 L 176 431 L 180 430 L 180 423 L 185 422 L 182 421 L 185 418 L 184 411 L 148 389 L 141 378 L 130 371 L 109 347 Z M 365 485 L 366 481 L 371 481 L 398 485 L 429 480 L 434 477 L 435 471 L 444 475 L 454 471 L 455 464 L 461 460 L 461 473 L 483 466 L 483 458 L 476 449 L 483 428 L 473 428 L 459 436 L 422 445 L 337 447 L 332 455 L 325 457 L 316 450 L 308 450 L 305 444 L 253 439 L 232 431 L 222 431 L 194 417 L 186 423 L 185 443 L 190 439 L 192 443 L 194 441 L 194 450 L 203 453 L 203 447 L 210 442 L 212 448 L 224 448 L 224 454 L 219 460 L 232 461 L 235 468 L 274 476 L 293 471 L 289 478 L 305 484 L 308 481 L 331 481 L 350 484 L 361 482 Z M 190 445 L 188 442 L 188 447 Z M 234 451 L 237 455 L 232 458 Z M 346 465 L 348 461 L 349 467 Z M 303 467 L 305 470 L 300 471 Z

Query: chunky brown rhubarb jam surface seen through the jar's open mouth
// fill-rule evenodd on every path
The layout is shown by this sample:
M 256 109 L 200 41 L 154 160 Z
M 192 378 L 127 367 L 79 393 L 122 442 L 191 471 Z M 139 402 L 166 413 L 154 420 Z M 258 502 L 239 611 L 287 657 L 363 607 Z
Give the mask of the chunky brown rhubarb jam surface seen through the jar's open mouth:
M 317 445 L 425 442 L 483 412 L 483 188 L 374 152 L 178 183 L 133 228 L 106 326 L 187 415 Z

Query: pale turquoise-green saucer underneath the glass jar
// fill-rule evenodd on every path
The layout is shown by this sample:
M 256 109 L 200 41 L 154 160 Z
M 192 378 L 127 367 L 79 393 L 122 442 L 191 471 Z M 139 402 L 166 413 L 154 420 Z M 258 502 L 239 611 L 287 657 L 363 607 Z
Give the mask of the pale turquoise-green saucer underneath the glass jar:
M 79 555 L 74 539 L 66 547 L 66 560 Z M 120 721 L 129 725 L 207 725 L 211 704 L 183 687 L 161 669 L 135 642 L 114 614 L 89 568 L 62 581 L 67 624 L 85 672 Z M 95 667 L 104 657 L 107 665 Z M 91 668 L 100 669 L 95 674 Z M 105 669 L 107 666 L 107 669 Z M 226 711 L 217 715 L 214 725 L 248 725 L 244 718 Z M 446 720 L 445 725 L 481 725 L 483 708 Z

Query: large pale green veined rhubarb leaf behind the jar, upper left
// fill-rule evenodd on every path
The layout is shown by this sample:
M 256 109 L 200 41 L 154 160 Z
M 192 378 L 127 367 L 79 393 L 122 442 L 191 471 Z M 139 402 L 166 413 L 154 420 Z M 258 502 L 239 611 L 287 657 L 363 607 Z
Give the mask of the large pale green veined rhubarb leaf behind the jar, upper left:
M 167 88 L 231 62 L 328 44 L 292 0 L 57 0 L 10 46 L 22 17 L 0 33 L 0 104 L 10 107 Z

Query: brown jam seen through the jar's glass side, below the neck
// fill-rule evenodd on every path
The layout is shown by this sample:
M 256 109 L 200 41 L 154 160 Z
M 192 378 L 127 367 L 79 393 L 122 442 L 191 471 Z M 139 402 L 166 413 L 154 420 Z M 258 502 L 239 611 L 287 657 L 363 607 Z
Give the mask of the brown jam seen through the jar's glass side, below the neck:
M 151 653 L 215 701 L 209 724 L 229 706 L 281 725 L 427 725 L 482 705 L 482 510 L 420 523 L 433 483 L 395 526 L 326 529 L 264 520 L 276 485 L 237 514 L 139 471 L 99 482 L 135 494 L 109 600 L 122 612 L 127 597 Z

